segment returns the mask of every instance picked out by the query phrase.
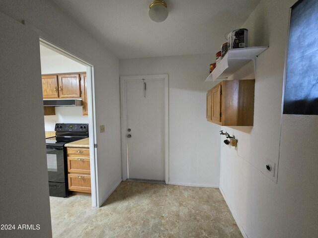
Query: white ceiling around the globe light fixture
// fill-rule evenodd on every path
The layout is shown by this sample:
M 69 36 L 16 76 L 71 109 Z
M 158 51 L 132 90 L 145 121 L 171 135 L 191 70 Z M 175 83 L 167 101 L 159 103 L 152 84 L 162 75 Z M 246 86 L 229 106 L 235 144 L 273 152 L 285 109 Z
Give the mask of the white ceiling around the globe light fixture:
M 161 23 L 152 0 L 51 0 L 119 59 L 216 53 L 260 0 L 166 0 Z

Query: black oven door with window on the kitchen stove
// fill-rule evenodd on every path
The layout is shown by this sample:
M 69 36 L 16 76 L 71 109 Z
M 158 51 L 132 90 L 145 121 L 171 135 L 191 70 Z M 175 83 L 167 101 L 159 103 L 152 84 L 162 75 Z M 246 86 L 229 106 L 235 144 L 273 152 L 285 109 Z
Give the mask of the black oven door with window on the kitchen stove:
M 49 182 L 65 182 L 64 147 L 46 146 Z

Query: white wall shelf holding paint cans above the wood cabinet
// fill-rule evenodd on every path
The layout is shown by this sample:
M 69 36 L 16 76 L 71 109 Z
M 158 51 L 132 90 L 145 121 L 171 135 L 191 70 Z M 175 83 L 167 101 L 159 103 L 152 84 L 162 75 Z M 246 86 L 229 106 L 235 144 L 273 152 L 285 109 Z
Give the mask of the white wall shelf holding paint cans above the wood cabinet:
M 227 79 L 250 60 L 254 61 L 254 70 L 256 71 L 256 58 L 267 49 L 268 46 L 257 46 L 230 50 L 210 73 L 205 82 Z

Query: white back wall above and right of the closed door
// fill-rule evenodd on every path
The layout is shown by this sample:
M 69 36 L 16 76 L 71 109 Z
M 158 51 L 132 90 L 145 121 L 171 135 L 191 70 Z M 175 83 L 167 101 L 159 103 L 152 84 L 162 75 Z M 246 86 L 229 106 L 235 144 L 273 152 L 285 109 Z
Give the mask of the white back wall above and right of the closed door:
M 120 76 L 169 75 L 169 182 L 219 186 L 220 126 L 206 120 L 214 55 L 120 60 Z

